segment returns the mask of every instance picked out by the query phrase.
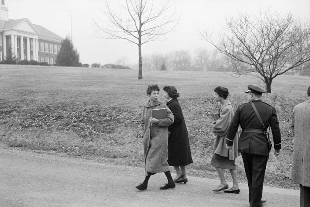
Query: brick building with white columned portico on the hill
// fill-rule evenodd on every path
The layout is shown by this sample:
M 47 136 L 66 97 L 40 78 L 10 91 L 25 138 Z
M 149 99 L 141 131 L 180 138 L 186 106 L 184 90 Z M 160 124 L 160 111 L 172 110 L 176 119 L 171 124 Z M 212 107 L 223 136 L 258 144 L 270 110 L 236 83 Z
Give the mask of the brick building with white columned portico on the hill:
M 9 19 L 8 8 L 0 4 L 0 61 L 12 53 L 21 60 L 35 60 L 55 64 L 62 37 L 48 29 L 30 22 L 29 19 Z

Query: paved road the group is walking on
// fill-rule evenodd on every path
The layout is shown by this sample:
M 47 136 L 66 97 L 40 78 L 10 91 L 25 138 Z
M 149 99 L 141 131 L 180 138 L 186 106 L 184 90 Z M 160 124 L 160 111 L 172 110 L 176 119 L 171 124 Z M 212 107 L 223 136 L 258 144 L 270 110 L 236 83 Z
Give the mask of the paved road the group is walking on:
M 157 173 L 147 190 L 138 191 L 135 186 L 144 179 L 143 168 L 10 148 L 0 147 L 0 172 L 1 207 L 249 206 L 246 184 L 239 184 L 239 195 L 217 193 L 212 189 L 218 180 L 188 176 L 187 184 L 160 190 L 166 177 Z M 299 206 L 298 190 L 264 187 L 263 198 L 264 207 Z

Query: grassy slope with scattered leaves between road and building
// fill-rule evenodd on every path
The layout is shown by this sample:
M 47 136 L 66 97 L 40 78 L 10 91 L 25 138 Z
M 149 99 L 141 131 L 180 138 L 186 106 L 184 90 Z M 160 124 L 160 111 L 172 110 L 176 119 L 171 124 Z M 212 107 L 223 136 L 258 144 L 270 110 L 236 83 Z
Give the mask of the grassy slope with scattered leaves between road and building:
M 263 82 L 221 72 L 143 71 L 143 77 L 138 80 L 136 70 L 0 65 L 0 142 L 143 166 L 140 116 L 148 100 L 146 88 L 173 85 L 180 93 L 194 160 L 188 174 L 217 179 L 210 166 L 214 137 L 209 115 L 220 107 L 213 100 L 213 89 L 227 87 L 236 109 L 247 101 L 246 86 L 264 87 Z M 279 158 L 271 151 L 266 185 L 299 187 L 290 185 L 290 117 L 294 106 L 306 99 L 309 86 L 310 77 L 281 75 L 272 83 L 272 94 L 263 95 L 263 101 L 277 109 L 283 149 Z M 163 94 L 161 90 L 162 100 Z M 238 177 L 244 182 L 241 158 L 237 164 Z

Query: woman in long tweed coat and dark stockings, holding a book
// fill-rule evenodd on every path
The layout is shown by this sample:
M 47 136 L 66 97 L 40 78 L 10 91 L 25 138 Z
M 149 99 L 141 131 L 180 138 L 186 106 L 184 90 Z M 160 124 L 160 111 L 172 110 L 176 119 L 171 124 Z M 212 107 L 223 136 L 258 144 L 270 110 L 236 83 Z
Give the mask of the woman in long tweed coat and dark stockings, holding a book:
M 173 123 L 173 114 L 163 101 L 158 100 L 159 87 L 156 85 L 148 86 L 146 93 L 150 100 L 144 104 L 142 111 L 142 142 L 144 148 L 145 179 L 142 184 L 136 186 L 139 190 L 148 187 L 148 179 L 157 172 L 165 172 L 168 184 L 161 187 L 161 190 L 175 188 L 175 183 L 170 174 L 168 165 L 168 126 Z M 152 109 L 166 108 L 167 117 L 165 119 L 155 119 L 151 117 Z M 158 123 L 151 126 L 151 123 Z

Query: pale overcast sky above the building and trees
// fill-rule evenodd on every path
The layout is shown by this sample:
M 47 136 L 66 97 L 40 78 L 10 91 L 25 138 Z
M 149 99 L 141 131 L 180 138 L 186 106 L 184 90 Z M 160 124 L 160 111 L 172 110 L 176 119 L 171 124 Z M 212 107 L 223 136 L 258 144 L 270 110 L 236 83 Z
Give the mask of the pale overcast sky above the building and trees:
M 163 0 L 156 0 L 155 3 Z M 211 48 L 201 40 L 199 28 L 218 30 L 225 16 L 237 15 L 239 11 L 253 12 L 270 6 L 278 12 L 292 12 L 300 19 L 310 19 L 310 0 L 175 0 L 182 18 L 179 29 L 170 33 L 169 39 L 142 45 L 142 55 L 168 53 L 172 50 L 193 51 L 199 47 Z M 114 1 L 115 2 L 115 1 Z M 124 0 L 119 0 L 124 2 Z M 128 63 L 138 62 L 138 46 L 125 40 L 102 40 L 95 37 L 93 19 L 102 19 L 105 11 L 103 0 L 5 0 L 9 19 L 28 18 L 65 38 L 71 36 L 80 53 L 80 61 L 92 63 L 115 63 L 122 56 Z M 117 8 L 115 8 L 117 11 Z M 70 15 L 70 13 L 72 15 Z

